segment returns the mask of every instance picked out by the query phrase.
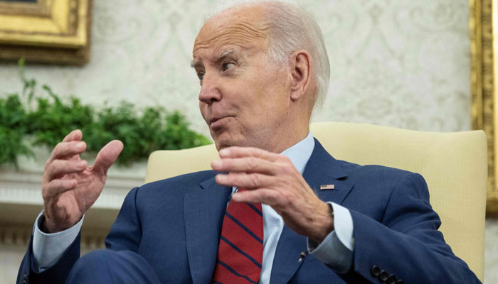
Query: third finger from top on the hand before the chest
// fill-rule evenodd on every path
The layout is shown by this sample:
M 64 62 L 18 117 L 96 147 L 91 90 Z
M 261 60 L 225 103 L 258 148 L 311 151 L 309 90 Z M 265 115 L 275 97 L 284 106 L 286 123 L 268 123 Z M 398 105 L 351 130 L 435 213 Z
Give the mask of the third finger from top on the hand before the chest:
M 247 190 L 253 190 L 261 187 L 271 187 L 274 179 L 270 175 L 260 173 L 229 173 L 216 175 L 218 185 L 242 187 Z

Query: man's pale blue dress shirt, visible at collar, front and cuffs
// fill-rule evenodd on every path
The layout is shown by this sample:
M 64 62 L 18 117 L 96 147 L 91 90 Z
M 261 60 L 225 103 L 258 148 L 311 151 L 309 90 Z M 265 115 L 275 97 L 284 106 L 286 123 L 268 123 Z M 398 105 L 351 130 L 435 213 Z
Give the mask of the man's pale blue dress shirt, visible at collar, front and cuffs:
M 302 174 L 313 149 L 314 138 L 309 133 L 304 140 L 283 151 L 281 155 L 290 158 L 295 168 Z M 232 195 L 235 191 L 236 188 L 233 188 Z M 331 204 L 334 210 L 334 231 L 330 232 L 320 244 L 308 239 L 308 252 L 320 261 L 327 263 L 337 273 L 345 273 L 351 268 L 353 258 L 353 219 L 348 209 L 334 202 L 327 203 Z M 64 251 L 78 236 L 83 224 L 82 218 L 78 224 L 65 231 L 46 234 L 39 229 L 38 224 L 41 222 L 41 218 L 43 218 L 43 212 L 36 218 L 33 228 L 33 269 L 36 272 L 43 272 L 57 263 Z M 275 251 L 283 228 L 282 217 L 272 207 L 263 204 L 264 239 L 260 284 L 270 283 L 273 258 L 275 258 Z

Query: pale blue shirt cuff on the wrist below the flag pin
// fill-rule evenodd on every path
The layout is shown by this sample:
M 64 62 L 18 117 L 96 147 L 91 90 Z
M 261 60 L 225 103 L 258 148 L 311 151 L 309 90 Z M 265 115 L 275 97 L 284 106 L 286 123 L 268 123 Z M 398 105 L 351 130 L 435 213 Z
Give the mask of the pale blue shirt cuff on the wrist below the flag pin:
M 349 209 L 334 202 L 327 203 L 334 210 L 334 230 L 320 244 L 308 238 L 308 252 L 337 273 L 346 273 L 353 261 L 353 218 Z

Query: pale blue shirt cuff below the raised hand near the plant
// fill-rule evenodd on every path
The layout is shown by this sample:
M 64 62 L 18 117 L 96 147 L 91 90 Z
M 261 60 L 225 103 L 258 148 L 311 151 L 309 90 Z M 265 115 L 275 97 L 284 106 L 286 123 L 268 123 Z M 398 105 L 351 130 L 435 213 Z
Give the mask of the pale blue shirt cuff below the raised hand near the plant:
M 84 218 L 85 215 L 69 229 L 47 234 L 40 229 L 41 222 L 45 219 L 43 211 L 38 214 L 33 227 L 33 271 L 42 273 L 57 263 L 78 236 Z

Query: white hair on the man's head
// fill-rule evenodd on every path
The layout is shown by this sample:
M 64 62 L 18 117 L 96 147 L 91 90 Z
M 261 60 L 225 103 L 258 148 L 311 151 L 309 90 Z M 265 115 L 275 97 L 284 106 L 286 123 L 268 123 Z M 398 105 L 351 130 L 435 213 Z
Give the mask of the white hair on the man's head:
M 229 1 L 208 15 L 208 18 L 231 8 L 261 5 L 269 13 L 267 21 L 269 29 L 269 50 L 267 55 L 270 60 L 287 63 L 290 55 L 296 50 L 304 49 L 312 58 L 314 72 L 312 80 L 317 84 L 314 109 L 322 107 L 330 80 L 330 65 L 327 48 L 325 48 L 322 30 L 314 17 L 300 4 L 291 0 L 238 0 Z

